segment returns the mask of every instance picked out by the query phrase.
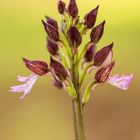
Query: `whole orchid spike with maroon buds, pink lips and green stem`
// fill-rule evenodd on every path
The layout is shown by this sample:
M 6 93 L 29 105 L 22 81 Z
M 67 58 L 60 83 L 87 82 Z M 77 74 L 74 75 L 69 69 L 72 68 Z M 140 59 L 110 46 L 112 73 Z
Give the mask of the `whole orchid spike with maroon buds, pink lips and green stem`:
M 44 61 L 33 61 L 23 58 L 25 66 L 32 72 L 27 77 L 18 76 L 22 85 L 12 86 L 10 91 L 23 92 L 23 99 L 30 93 L 36 80 L 45 75 L 51 75 L 54 85 L 65 89 L 72 99 L 75 140 L 85 140 L 84 108 L 91 93 L 97 85 L 109 83 L 126 90 L 133 75 L 115 74 L 111 76 L 115 61 L 113 60 L 113 43 L 97 51 L 97 43 L 103 36 L 105 21 L 95 26 L 99 6 L 87 13 L 81 20 L 75 0 L 58 1 L 58 11 L 62 17 L 61 27 L 57 21 L 46 17 L 42 20 L 46 32 L 46 48 L 50 53 L 50 64 Z M 82 38 L 90 32 L 89 41 L 84 44 Z M 95 75 L 92 72 L 95 72 Z M 85 77 L 91 74 L 92 80 L 85 90 L 82 89 Z

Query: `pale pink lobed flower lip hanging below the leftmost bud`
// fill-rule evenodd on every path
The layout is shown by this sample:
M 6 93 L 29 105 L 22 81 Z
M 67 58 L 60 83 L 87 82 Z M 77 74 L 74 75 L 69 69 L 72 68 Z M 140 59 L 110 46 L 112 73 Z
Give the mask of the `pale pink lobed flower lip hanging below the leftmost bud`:
M 23 99 L 27 94 L 30 93 L 33 85 L 35 84 L 38 78 L 39 75 L 36 74 L 31 74 L 27 77 L 18 76 L 18 81 L 24 82 L 24 84 L 12 86 L 10 92 L 14 92 L 14 93 L 24 92 L 24 94 L 20 97 L 20 99 Z

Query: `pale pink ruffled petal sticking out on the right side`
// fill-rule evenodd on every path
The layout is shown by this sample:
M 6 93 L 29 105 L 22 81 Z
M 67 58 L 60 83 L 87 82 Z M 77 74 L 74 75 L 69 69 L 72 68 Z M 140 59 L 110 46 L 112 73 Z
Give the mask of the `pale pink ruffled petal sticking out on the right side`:
M 121 77 L 118 76 L 118 74 L 114 75 L 113 77 L 109 77 L 107 80 L 108 83 L 110 83 L 113 86 L 116 86 L 122 90 L 127 90 L 131 81 L 133 79 L 133 75 L 122 75 Z

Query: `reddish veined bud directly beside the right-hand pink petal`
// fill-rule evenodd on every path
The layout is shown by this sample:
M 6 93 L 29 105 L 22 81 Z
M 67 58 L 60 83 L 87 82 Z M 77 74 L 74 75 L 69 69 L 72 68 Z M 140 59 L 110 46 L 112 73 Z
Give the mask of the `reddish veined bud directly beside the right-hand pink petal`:
M 115 61 L 111 62 L 111 64 L 107 65 L 106 67 L 99 69 L 95 74 L 95 79 L 97 80 L 97 82 L 106 82 L 109 78 L 110 73 L 112 72 L 114 65 Z

